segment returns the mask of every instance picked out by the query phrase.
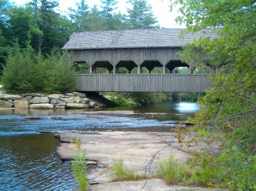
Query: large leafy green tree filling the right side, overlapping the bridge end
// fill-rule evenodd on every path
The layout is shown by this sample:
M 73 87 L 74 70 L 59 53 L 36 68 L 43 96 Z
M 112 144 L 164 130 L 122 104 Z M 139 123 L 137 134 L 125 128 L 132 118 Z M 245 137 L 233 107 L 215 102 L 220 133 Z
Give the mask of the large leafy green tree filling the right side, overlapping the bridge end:
M 212 88 L 199 101 L 200 111 L 192 122 L 197 124 L 201 137 L 219 141 L 224 152 L 218 157 L 197 153 L 193 161 L 218 169 L 213 184 L 231 190 L 255 190 L 255 1 L 173 2 L 173 6 L 181 4 L 182 16 L 176 20 L 186 23 L 187 32 L 211 29 L 220 35 L 191 42 L 212 56 L 210 65 L 220 67 L 212 79 Z

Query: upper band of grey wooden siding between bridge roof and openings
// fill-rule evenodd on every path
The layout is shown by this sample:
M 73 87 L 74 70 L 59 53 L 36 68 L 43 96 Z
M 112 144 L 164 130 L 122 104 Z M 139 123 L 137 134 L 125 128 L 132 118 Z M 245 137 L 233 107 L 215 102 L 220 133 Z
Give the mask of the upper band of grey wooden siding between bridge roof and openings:
M 145 60 L 158 60 L 166 65 L 171 60 L 180 60 L 176 54 L 179 50 L 179 47 L 72 50 L 72 60 L 87 62 L 89 66 L 96 61 L 109 61 L 113 66 L 119 61 L 134 61 L 141 65 Z

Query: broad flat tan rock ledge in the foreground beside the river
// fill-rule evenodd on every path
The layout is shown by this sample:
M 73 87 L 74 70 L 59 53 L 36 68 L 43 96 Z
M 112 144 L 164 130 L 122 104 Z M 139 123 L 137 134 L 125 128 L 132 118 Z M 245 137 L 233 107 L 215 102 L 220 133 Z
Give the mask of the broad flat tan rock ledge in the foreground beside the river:
M 55 134 L 55 137 L 60 138 L 61 141 L 60 146 L 56 148 L 56 154 L 61 160 L 73 160 L 75 152 L 85 151 L 89 161 L 97 162 L 98 168 L 93 169 L 88 176 L 89 190 L 221 190 L 170 186 L 161 179 L 111 182 L 111 166 L 120 159 L 127 169 L 143 175 L 155 175 L 159 162 L 170 155 L 180 163 L 185 163 L 191 154 L 177 146 L 174 133 L 125 131 L 102 131 L 96 134 L 63 134 L 63 131 L 59 133 Z M 72 143 L 77 138 L 81 141 L 80 147 Z

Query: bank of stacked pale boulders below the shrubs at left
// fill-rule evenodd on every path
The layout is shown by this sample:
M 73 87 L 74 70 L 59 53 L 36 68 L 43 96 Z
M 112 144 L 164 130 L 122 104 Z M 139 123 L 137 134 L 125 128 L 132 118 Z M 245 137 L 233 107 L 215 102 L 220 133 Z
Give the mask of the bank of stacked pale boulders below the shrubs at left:
M 105 97 L 105 99 L 108 99 Z M 73 92 L 67 94 L 24 94 L 10 95 L 0 92 L 0 107 L 22 109 L 80 109 L 106 107 L 106 104 L 86 98 L 85 94 Z

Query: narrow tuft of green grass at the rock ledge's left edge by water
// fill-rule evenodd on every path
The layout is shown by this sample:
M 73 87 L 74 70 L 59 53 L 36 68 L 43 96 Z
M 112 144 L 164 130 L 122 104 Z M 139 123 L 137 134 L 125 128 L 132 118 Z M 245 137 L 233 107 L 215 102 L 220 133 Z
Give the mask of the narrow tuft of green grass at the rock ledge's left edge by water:
M 87 167 L 85 162 L 85 151 L 82 154 L 75 153 L 75 161 L 72 163 L 72 171 L 76 182 L 79 184 L 79 190 L 87 190 Z

